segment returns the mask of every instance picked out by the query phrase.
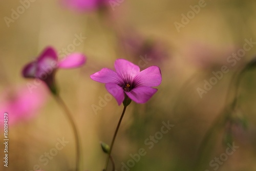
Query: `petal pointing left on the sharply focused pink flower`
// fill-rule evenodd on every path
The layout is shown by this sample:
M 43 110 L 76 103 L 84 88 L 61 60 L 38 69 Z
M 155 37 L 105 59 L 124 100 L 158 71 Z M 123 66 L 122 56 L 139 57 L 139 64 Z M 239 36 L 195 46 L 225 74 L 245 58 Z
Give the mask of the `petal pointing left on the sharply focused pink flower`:
M 90 76 L 94 81 L 101 83 L 119 83 L 119 76 L 111 69 L 103 68 Z

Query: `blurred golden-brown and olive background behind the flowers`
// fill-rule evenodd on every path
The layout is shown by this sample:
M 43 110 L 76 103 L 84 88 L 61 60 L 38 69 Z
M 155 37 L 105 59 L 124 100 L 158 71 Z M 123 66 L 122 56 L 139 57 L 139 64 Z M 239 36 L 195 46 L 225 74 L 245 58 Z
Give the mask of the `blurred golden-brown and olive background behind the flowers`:
M 255 1 L 124 0 L 90 8 L 67 2 L 0 2 L 1 160 L 4 112 L 11 120 L 9 162 L 1 161 L 1 170 L 75 168 L 63 110 L 44 83 L 31 93 L 34 80 L 21 74 L 47 46 L 59 58 L 87 56 L 82 68 L 56 73 L 79 129 L 82 170 L 103 169 L 100 142 L 111 143 L 122 112 L 90 79 L 113 69 L 117 58 L 141 70 L 157 65 L 163 80 L 150 101 L 127 108 L 113 148 L 116 170 L 256 170 L 256 71 L 244 69 L 256 54 Z M 172 124 L 165 134 L 163 122 Z M 141 148 L 145 154 L 134 158 Z

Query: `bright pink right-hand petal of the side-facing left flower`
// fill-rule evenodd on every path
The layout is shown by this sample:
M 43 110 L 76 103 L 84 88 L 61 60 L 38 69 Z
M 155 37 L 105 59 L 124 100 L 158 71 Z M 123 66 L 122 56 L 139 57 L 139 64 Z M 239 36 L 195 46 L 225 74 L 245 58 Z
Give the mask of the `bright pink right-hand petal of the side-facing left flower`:
M 58 68 L 69 69 L 81 67 L 86 63 L 86 56 L 81 53 L 73 53 L 58 62 Z

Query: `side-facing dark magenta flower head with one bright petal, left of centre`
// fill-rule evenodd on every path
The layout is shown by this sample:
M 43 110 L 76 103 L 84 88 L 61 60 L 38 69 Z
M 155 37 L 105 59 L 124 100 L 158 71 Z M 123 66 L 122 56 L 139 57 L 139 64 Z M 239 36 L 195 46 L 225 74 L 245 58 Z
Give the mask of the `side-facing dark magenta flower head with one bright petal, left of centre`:
M 56 93 L 54 75 L 58 68 L 70 69 L 82 66 L 86 62 L 86 56 L 73 53 L 58 61 L 57 53 L 52 47 L 47 47 L 39 57 L 28 63 L 23 69 L 26 78 L 38 78 L 44 81 L 52 93 Z

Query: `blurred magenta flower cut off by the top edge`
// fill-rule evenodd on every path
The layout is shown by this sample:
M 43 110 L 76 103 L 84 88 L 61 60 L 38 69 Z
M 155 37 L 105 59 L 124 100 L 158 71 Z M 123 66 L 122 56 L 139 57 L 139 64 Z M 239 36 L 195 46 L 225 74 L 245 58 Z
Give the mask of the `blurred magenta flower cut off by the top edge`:
M 62 0 L 63 4 L 71 9 L 83 12 L 94 11 L 106 6 L 108 0 Z

